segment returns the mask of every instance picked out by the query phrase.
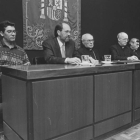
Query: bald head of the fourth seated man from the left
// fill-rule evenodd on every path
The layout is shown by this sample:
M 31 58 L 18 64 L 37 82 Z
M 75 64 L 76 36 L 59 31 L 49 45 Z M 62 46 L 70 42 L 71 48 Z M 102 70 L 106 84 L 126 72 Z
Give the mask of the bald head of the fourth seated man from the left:
M 124 32 L 121 32 L 117 35 L 117 38 L 118 38 L 118 43 L 124 47 L 127 45 L 127 42 L 128 42 L 128 35 Z

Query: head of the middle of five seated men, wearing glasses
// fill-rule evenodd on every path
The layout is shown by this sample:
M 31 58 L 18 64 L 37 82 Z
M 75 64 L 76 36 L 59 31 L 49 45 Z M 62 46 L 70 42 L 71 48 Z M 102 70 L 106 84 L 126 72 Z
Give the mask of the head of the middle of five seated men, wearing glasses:
M 92 49 L 94 47 L 93 36 L 89 33 L 82 35 L 82 43 L 86 48 Z

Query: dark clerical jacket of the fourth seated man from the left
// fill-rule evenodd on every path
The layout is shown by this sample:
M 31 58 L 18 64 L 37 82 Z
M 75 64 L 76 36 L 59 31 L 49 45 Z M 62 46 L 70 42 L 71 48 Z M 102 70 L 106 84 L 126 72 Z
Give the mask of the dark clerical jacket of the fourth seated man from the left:
M 133 55 L 129 46 L 122 48 L 119 44 L 111 46 L 110 53 L 113 60 L 127 60 L 127 57 Z

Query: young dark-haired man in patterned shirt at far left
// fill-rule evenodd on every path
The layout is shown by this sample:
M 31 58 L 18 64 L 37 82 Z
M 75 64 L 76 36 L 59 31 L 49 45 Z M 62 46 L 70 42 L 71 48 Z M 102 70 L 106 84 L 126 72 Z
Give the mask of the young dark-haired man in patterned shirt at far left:
M 0 65 L 29 65 L 25 51 L 16 45 L 15 24 L 9 21 L 0 23 Z

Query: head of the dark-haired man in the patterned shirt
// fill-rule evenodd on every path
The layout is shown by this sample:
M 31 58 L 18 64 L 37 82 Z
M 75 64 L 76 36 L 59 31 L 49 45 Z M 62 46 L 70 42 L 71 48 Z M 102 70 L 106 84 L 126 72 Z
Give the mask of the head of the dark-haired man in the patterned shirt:
M 13 42 L 16 39 L 15 24 L 9 21 L 0 23 L 0 35 L 6 42 Z

